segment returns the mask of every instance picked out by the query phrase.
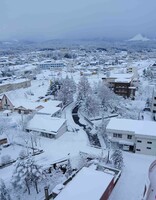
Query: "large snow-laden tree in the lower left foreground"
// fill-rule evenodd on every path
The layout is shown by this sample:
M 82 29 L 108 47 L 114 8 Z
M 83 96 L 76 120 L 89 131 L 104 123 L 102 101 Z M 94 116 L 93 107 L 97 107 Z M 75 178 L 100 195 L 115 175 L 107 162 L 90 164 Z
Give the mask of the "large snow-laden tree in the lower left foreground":
M 42 167 L 37 165 L 33 157 L 29 156 L 25 159 L 18 159 L 16 162 L 12 184 L 16 189 L 27 189 L 28 194 L 30 194 L 30 187 L 34 185 L 38 193 L 38 183 L 45 178 Z

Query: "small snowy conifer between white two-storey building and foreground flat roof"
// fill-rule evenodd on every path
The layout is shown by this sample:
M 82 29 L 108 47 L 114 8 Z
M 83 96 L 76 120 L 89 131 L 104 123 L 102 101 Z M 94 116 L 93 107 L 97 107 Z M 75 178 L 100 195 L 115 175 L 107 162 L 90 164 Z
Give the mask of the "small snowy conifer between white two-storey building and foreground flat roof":
M 122 151 L 120 149 L 114 150 L 112 156 L 111 156 L 113 166 L 117 169 L 123 168 L 123 155 Z

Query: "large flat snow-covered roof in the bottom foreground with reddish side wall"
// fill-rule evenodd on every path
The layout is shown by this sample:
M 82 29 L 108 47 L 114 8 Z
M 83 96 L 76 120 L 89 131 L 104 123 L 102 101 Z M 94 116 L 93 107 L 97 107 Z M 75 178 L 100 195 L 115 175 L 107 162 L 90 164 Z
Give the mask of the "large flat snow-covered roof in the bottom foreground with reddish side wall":
M 55 199 L 99 200 L 112 179 L 111 174 L 83 167 Z

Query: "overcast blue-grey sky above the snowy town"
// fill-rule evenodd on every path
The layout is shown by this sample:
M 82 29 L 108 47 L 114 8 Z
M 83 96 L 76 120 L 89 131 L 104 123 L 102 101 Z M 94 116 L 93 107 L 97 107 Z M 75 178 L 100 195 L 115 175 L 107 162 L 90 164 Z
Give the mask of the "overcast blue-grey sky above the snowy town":
M 0 0 L 0 40 L 156 37 L 156 0 Z

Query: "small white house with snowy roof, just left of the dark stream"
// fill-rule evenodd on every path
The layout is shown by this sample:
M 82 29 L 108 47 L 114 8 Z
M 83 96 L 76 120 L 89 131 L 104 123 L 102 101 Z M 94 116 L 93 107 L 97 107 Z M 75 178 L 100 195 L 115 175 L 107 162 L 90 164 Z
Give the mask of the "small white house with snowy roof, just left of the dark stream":
M 58 138 L 67 130 L 66 120 L 49 115 L 35 115 L 27 125 L 26 130 L 40 133 L 48 138 Z

